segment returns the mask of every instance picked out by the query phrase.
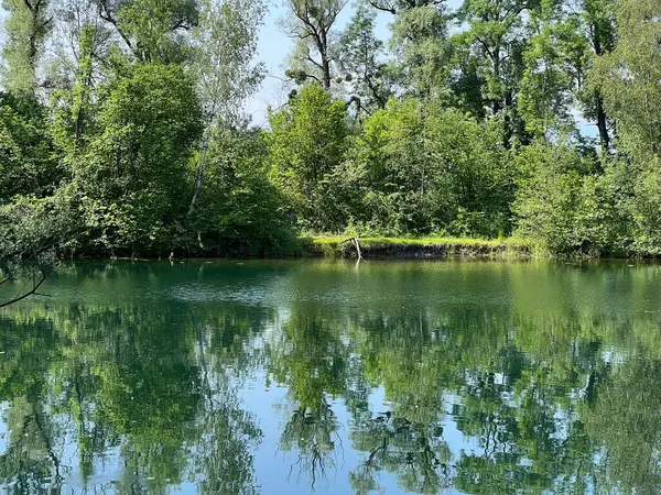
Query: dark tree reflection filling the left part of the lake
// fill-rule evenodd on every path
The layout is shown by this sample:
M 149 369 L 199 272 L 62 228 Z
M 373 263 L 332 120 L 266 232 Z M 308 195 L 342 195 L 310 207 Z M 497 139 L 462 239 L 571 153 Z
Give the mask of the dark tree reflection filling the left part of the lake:
M 256 418 L 231 371 L 195 346 L 218 328 L 205 318 L 205 334 L 182 331 L 180 309 L 68 307 L 2 320 L 9 493 L 97 486 L 101 473 L 109 493 L 162 493 L 188 479 L 201 493 L 258 492 Z

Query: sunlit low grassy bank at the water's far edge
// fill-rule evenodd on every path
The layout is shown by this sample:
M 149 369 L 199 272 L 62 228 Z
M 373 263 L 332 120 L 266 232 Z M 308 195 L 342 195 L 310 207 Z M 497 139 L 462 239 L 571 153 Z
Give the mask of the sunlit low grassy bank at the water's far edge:
M 534 251 L 529 241 L 521 239 L 378 237 L 358 241 L 364 257 L 530 257 Z M 307 237 L 301 242 L 303 255 L 357 256 L 356 245 L 348 237 Z

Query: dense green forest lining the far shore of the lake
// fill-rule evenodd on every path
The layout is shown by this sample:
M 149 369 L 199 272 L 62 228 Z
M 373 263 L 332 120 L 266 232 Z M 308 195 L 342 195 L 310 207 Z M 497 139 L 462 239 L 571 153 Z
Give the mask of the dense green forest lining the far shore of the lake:
M 3 0 L 1 256 L 661 254 L 659 0 L 347 1 L 285 0 L 289 97 L 257 127 L 263 0 Z

